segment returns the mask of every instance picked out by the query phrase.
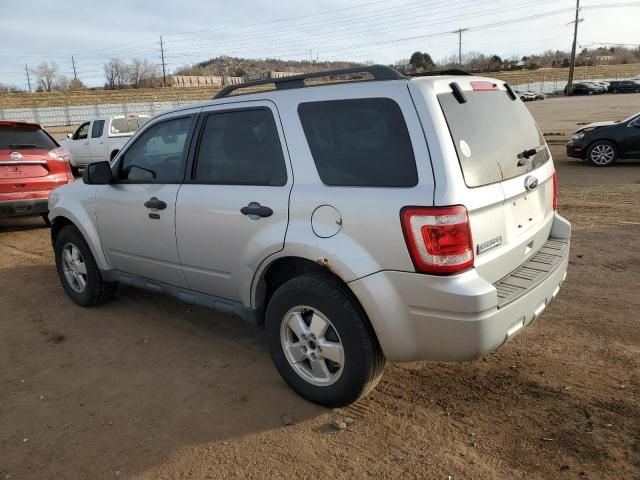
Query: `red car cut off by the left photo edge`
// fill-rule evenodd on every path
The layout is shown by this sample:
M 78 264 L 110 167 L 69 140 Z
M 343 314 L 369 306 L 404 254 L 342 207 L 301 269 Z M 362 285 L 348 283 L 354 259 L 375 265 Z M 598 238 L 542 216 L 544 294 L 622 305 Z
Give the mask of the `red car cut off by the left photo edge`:
M 0 121 L 0 218 L 42 215 L 49 193 L 73 181 L 69 154 L 40 125 Z

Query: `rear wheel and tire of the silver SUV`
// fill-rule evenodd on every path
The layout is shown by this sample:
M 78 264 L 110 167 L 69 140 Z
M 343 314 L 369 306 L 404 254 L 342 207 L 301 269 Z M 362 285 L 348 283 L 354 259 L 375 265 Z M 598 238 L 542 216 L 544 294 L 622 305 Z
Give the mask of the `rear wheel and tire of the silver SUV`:
M 307 400 L 349 405 L 382 377 L 385 358 L 360 305 L 329 275 L 285 282 L 265 321 L 271 358 L 282 378 Z

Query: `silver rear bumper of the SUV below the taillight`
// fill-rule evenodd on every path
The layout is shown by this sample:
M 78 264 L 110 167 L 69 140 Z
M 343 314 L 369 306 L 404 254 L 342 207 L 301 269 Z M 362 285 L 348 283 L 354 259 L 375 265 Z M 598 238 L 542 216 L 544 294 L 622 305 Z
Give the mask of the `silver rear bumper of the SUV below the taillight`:
M 513 338 L 557 295 L 566 277 L 570 237 L 569 223 L 558 215 L 552 236 L 552 242 L 566 248 L 548 271 L 506 300 L 501 284 L 504 287 L 509 277 L 492 285 L 475 270 L 451 277 L 385 271 L 349 286 L 367 312 L 388 360 L 474 360 Z

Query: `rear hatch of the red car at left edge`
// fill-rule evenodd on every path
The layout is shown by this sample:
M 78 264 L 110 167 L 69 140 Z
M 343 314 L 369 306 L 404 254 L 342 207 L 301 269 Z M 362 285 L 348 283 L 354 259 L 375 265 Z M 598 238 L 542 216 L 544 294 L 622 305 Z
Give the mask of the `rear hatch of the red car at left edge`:
M 65 173 L 50 152 L 57 143 L 40 126 L 0 122 L 0 194 L 46 191 L 60 181 L 52 174 Z

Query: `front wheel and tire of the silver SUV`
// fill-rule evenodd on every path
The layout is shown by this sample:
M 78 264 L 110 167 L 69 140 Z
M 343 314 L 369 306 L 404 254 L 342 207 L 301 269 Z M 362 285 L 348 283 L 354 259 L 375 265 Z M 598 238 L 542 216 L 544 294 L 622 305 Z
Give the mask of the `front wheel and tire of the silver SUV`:
M 83 307 L 111 300 L 115 284 L 102 278 L 89 245 L 76 227 L 68 225 L 60 230 L 54 250 L 60 283 L 71 300 Z

